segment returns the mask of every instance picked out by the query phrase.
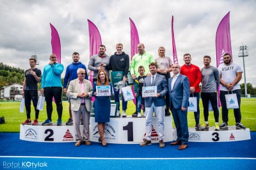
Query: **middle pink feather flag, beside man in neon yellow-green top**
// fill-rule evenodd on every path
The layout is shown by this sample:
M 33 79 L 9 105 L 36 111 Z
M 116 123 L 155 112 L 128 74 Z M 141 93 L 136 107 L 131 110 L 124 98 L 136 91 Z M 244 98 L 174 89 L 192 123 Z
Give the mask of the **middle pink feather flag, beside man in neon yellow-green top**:
M 136 25 L 134 24 L 134 22 L 132 21 L 131 18 L 130 19 L 130 25 L 131 25 L 131 59 L 132 57 L 138 53 L 138 44 L 140 44 L 140 39 L 139 39 L 139 34 L 136 28 Z M 132 93 L 133 96 L 135 96 L 134 94 L 134 89 L 133 89 L 133 85 L 132 85 Z M 136 99 L 133 99 L 133 103 L 136 104 Z

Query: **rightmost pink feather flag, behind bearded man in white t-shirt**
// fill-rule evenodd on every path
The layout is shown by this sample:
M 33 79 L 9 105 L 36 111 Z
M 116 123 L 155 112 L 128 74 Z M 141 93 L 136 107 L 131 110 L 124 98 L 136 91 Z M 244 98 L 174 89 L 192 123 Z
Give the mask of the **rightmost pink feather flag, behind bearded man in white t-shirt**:
M 230 53 L 232 57 L 231 49 L 231 39 L 230 39 L 230 25 L 229 25 L 229 13 L 221 20 L 217 32 L 216 32 L 216 65 L 217 67 L 223 63 L 223 55 L 225 53 Z M 231 58 L 232 59 L 232 58 Z M 220 102 L 220 87 L 218 89 L 218 103 L 221 106 Z

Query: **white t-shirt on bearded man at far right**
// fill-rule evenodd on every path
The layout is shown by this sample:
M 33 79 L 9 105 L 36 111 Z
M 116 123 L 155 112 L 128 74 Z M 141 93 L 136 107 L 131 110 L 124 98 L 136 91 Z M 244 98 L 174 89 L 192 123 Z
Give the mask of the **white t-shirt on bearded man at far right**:
M 219 73 L 221 74 L 221 79 L 229 84 L 233 83 L 233 81 L 235 80 L 236 73 L 238 72 L 243 73 L 243 69 L 239 65 L 235 64 L 234 62 L 232 62 L 228 66 L 226 66 L 223 63 L 218 67 L 218 70 L 219 70 Z M 233 87 L 232 90 L 237 90 L 237 89 L 241 89 L 238 83 Z M 227 87 L 225 87 L 224 85 L 221 85 L 220 90 L 228 91 Z

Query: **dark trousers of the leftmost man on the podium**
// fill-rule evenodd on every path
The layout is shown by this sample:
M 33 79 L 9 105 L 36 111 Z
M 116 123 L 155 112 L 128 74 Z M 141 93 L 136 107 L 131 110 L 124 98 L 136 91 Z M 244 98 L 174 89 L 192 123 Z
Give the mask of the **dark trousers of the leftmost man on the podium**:
M 26 114 L 27 118 L 30 118 L 31 113 L 31 99 L 33 102 L 33 106 L 35 108 L 35 118 L 38 118 L 39 110 L 36 109 L 37 102 L 38 102 L 38 93 L 37 90 L 24 90 L 24 99 L 25 99 L 25 107 L 26 107 Z

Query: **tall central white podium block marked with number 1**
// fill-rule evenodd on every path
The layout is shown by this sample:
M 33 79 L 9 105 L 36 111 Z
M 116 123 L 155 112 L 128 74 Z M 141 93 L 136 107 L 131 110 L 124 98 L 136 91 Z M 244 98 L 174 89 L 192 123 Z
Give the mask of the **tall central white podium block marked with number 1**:
M 91 117 L 91 141 L 99 141 L 99 131 L 94 117 Z M 110 122 L 106 123 L 104 137 L 106 143 L 120 143 L 120 144 L 135 144 L 143 142 L 146 132 L 146 119 L 145 118 L 110 118 Z M 157 134 L 157 118 L 152 118 L 152 143 L 159 142 Z M 173 141 L 172 132 L 172 117 L 164 117 L 164 142 Z

